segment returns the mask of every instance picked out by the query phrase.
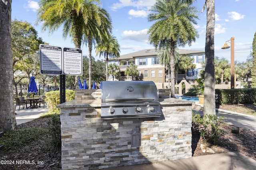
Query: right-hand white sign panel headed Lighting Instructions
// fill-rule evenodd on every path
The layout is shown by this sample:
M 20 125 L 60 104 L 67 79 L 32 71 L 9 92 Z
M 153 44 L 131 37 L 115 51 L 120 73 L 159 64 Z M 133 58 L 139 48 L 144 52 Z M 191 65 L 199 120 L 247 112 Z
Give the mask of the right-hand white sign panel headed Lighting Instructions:
M 83 59 L 82 50 L 73 48 L 63 48 L 64 55 L 64 74 L 65 75 L 82 75 Z

